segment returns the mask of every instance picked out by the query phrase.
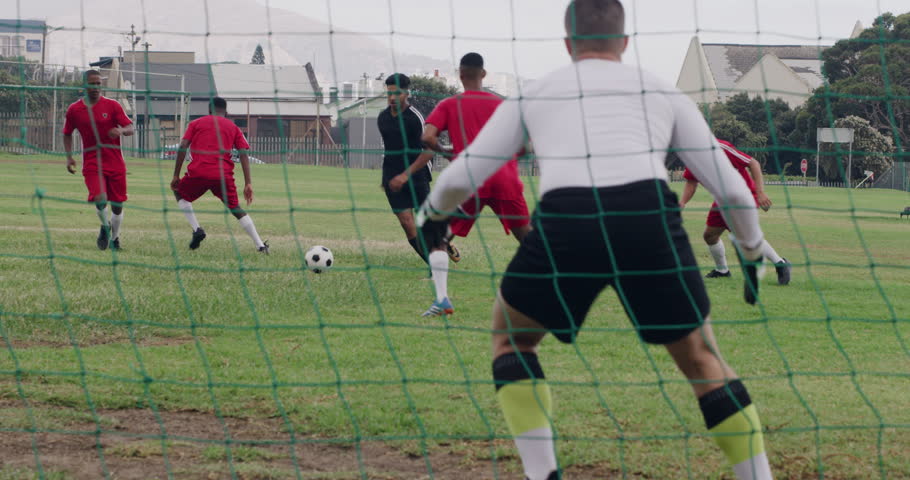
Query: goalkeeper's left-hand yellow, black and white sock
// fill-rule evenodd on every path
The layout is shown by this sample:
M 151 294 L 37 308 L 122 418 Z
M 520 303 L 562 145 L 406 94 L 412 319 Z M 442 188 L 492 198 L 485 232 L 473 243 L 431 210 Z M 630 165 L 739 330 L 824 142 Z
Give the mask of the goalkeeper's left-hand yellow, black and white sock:
M 525 475 L 529 480 L 558 479 L 550 427 L 550 386 L 537 355 L 516 352 L 499 356 L 493 360 L 493 380 Z

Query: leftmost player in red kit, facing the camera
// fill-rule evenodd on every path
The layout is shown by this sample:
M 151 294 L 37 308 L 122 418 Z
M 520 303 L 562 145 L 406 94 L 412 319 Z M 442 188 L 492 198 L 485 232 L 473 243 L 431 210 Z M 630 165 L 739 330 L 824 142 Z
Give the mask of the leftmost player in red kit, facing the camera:
M 88 70 L 82 76 L 85 96 L 66 109 L 63 123 L 63 149 L 66 169 L 76 173 L 73 158 L 73 131 L 82 137 L 82 177 L 88 188 L 88 201 L 95 203 L 101 219 L 96 241 L 101 250 L 120 249 L 120 225 L 126 202 L 126 163 L 120 151 L 120 137 L 133 134 L 133 122 L 116 100 L 101 95 L 101 72 Z M 108 218 L 107 202 L 113 215 Z

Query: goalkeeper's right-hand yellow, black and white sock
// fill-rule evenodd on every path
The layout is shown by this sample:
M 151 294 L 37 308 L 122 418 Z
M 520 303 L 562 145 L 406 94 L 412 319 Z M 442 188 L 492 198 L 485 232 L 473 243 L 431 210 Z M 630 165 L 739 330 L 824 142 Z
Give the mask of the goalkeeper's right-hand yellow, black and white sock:
M 740 480 L 771 478 L 758 411 L 739 380 L 698 399 L 705 426 Z

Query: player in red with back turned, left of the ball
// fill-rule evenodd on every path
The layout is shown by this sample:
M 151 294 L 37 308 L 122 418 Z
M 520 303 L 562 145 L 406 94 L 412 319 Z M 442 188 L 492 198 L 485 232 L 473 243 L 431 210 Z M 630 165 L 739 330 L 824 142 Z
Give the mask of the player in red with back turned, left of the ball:
M 193 201 L 205 192 L 212 192 L 231 210 L 234 217 L 240 221 L 240 226 L 253 239 L 256 250 L 268 255 L 269 246 L 259 238 L 253 219 L 240 208 L 237 198 L 237 187 L 234 185 L 234 160 L 232 149 L 237 149 L 240 155 L 240 166 L 243 169 L 243 198 L 246 204 L 253 203 L 253 184 L 250 179 L 250 157 L 247 150 L 250 145 L 240 128 L 226 118 L 227 102 L 221 97 L 212 99 L 209 106 L 211 115 L 198 118 L 190 122 L 180 142 L 177 152 L 177 163 L 174 166 L 174 179 L 171 180 L 171 190 L 177 197 L 177 205 L 193 228 L 193 239 L 190 249 L 195 250 L 205 240 L 205 230 L 199 226 L 196 214 L 193 212 Z M 186 175 L 180 178 L 180 170 L 189 149 L 192 156 L 190 164 L 186 167 Z

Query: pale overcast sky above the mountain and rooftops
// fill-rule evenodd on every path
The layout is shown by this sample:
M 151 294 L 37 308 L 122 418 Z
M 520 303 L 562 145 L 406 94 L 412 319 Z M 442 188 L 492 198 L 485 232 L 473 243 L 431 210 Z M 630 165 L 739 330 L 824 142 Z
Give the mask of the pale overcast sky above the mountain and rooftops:
M 487 69 L 538 77 L 567 62 L 561 38 L 568 0 L 257 0 L 358 32 L 396 50 L 453 64 L 482 53 Z M 625 0 L 633 35 L 624 61 L 676 82 L 696 31 L 704 43 L 831 45 L 857 20 L 910 11 L 907 0 Z M 276 12 L 277 13 L 277 12 Z M 390 33 L 394 31 L 395 34 Z M 454 40 L 452 37 L 455 37 Z M 516 40 L 512 41 L 512 37 Z

